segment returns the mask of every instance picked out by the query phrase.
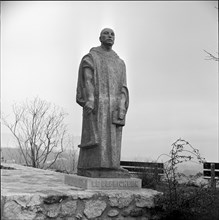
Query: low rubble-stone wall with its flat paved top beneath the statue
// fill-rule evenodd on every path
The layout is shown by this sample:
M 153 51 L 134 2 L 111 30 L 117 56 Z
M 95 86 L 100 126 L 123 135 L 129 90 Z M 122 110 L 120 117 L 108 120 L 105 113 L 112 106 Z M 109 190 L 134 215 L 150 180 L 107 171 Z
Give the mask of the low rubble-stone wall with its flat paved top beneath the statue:
M 2 220 L 159 219 L 155 190 L 81 190 L 61 173 L 3 165 L 15 170 L 1 170 Z

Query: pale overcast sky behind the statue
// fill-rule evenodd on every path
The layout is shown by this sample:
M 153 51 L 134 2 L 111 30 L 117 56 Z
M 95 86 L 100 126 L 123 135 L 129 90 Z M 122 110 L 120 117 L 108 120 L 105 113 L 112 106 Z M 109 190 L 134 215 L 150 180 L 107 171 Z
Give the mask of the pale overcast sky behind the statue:
M 181 137 L 208 161 L 218 161 L 218 63 L 203 51 L 217 55 L 215 6 L 217 1 L 2 1 L 1 111 L 9 114 L 14 102 L 39 96 L 63 107 L 69 132 L 80 136 L 79 63 L 109 27 L 130 92 L 122 159 L 154 160 Z

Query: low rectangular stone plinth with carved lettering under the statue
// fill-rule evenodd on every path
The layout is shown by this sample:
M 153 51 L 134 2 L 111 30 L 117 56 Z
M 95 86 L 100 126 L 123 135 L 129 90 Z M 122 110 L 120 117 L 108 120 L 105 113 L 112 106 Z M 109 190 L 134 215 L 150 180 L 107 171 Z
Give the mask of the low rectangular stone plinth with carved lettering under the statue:
M 136 190 L 141 188 L 138 178 L 89 178 L 65 175 L 65 184 L 89 190 Z

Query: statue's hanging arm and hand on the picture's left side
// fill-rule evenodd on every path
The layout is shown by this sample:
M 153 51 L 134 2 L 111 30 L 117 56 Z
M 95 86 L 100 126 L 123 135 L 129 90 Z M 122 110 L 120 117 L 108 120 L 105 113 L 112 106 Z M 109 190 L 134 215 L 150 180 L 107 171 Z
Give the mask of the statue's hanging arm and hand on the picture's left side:
M 84 106 L 85 112 L 90 114 L 94 109 L 94 85 L 93 85 L 93 70 L 84 68 L 84 82 L 86 91 L 86 103 Z

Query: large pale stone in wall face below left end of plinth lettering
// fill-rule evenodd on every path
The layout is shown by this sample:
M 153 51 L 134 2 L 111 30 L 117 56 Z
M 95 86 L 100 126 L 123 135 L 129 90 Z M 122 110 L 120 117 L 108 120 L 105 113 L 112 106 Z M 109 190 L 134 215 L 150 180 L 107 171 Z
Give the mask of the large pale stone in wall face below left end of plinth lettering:
M 96 218 L 101 216 L 106 208 L 106 202 L 103 200 L 89 200 L 85 202 L 84 214 L 87 218 Z

